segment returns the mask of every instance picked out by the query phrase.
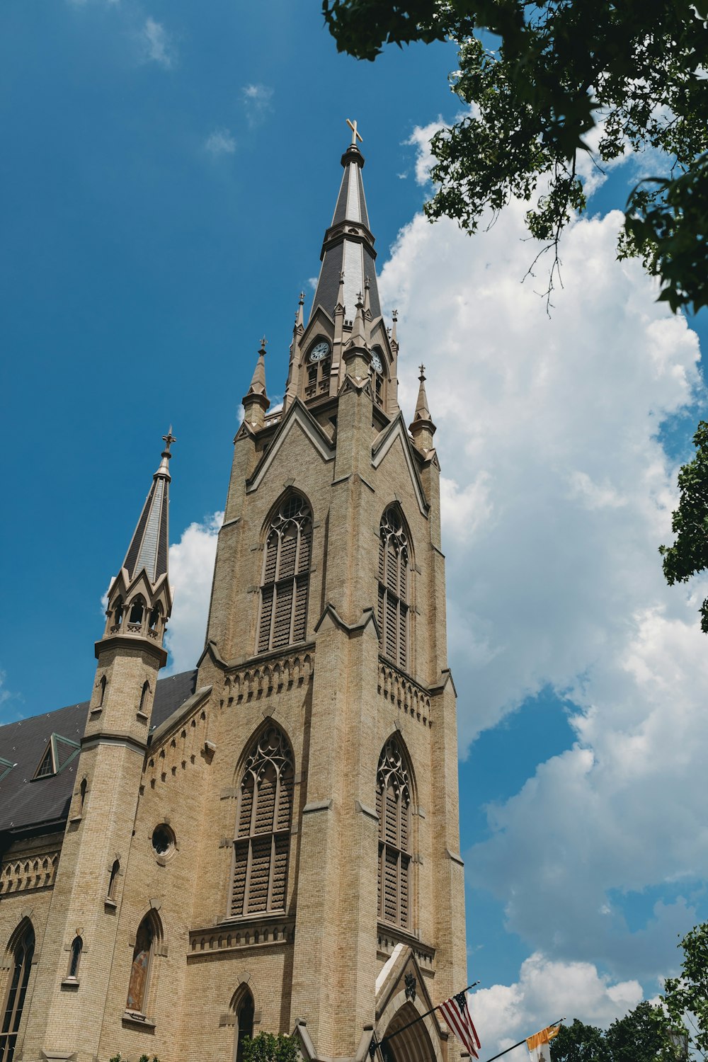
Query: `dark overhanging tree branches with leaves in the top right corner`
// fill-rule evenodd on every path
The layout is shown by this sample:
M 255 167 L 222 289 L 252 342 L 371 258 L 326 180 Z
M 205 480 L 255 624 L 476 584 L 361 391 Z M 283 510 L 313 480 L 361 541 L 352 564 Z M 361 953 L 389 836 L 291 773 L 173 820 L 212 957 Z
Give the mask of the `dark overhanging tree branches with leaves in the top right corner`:
M 621 256 L 640 255 L 673 310 L 708 305 L 708 0 L 323 0 L 340 51 L 452 39 L 451 88 L 469 113 L 432 141 L 426 204 L 473 233 L 512 196 L 555 249 L 585 209 L 579 160 L 652 150 L 659 176 L 632 192 Z M 496 39 L 495 39 L 496 38 Z M 490 47 L 490 44 L 498 47 Z

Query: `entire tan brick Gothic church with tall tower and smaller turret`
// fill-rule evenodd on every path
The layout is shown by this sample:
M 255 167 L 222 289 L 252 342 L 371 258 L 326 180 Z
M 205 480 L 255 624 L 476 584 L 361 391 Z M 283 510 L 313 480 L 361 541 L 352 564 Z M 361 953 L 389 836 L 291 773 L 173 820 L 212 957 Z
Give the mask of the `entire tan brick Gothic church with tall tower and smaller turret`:
M 169 433 L 90 703 L 0 727 L 0 1062 L 240 1062 L 260 1030 L 365 1062 L 466 983 L 435 426 L 422 371 L 398 407 L 357 139 L 282 410 L 264 343 L 243 399 L 197 670 L 156 681 Z M 437 1014 L 391 1043 L 460 1050 Z

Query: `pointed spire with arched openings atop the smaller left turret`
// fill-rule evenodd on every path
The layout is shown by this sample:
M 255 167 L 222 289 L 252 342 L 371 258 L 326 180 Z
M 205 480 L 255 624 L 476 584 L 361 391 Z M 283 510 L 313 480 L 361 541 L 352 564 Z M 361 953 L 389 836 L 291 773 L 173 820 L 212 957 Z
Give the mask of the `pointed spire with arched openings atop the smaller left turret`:
M 170 546 L 170 447 L 176 442 L 172 425 L 162 435 L 165 449 L 153 476 L 137 527 L 133 533 L 121 569 L 108 588 L 106 628 L 97 643 L 99 656 L 107 640 L 125 635 L 145 638 L 161 648 L 165 628 L 172 612 L 172 592 L 168 579 Z M 165 663 L 162 660 L 162 664 Z M 161 666 L 161 665 L 160 665 Z

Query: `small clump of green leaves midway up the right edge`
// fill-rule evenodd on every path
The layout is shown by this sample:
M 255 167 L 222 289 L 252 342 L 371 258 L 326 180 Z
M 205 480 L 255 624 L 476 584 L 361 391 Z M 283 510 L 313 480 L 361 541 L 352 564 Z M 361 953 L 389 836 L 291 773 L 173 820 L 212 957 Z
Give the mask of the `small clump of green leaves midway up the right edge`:
M 708 568 L 708 423 L 701 421 L 693 436 L 695 457 L 678 473 L 680 498 L 672 516 L 673 546 L 659 546 L 663 575 L 670 586 L 685 583 Z M 708 598 L 701 605 L 701 630 L 708 634 Z M 688 937 L 686 938 L 688 940 Z

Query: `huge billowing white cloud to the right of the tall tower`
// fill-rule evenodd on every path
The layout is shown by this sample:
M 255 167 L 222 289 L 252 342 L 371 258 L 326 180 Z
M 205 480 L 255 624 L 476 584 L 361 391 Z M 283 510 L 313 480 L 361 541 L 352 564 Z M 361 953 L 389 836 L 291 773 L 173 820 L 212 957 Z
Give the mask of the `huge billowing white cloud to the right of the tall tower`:
M 530 950 L 649 981 L 675 963 L 708 879 L 704 594 L 668 587 L 657 552 L 676 501 L 658 432 L 698 418 L 698 344 L 641 267 L 617 261 L 619 211 L 570 226 L 549 320 L 520 282 L 524 211 L 512 203 L 473 239 L 416 217 L 380 279 L 399 310 L 401 401 L 425 360 L 444 425 L 461 750 L 543 689 L 576 735 L 487 809 L 468 877 Z M 631 931 L 625 904 L 647 888 L 653 913 Z

